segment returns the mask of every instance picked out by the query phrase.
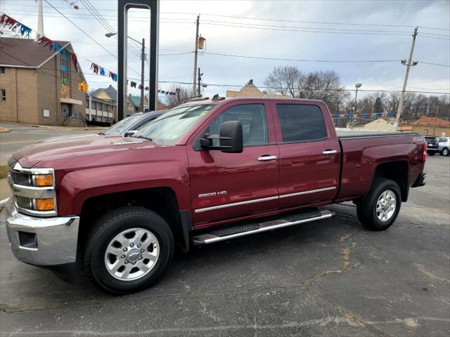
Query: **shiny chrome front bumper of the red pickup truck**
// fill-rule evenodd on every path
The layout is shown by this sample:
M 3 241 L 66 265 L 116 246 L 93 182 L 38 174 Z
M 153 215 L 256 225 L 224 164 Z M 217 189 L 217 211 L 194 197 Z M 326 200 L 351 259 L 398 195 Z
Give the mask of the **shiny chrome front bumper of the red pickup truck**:
M 18 213 L 12 198 L 4 205 L 6 231 L 13 254 L 32 265 L 75 263 L 79 216 L 36 218 Z M 31 234 L 27 234 L 31 233 Z M 35 238 L 35 244 L 21 239 Z

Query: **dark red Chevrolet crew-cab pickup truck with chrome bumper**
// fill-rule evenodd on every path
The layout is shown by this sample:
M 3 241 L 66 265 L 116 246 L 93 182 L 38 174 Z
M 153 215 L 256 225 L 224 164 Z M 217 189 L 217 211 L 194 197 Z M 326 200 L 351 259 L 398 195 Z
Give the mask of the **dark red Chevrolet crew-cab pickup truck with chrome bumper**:
M 8 239 L 25 263 L 81 261 L 103 291 L 138 291 L 160 278 L 175 244 L 330 218 L 324 205 L 353 201 L 364 226 L 385 230 L 409 188 L 424 185 L 426 144 L 411 133 L 337 136 L 316 100 L 194 100 L 132 137 L 13 154 Z

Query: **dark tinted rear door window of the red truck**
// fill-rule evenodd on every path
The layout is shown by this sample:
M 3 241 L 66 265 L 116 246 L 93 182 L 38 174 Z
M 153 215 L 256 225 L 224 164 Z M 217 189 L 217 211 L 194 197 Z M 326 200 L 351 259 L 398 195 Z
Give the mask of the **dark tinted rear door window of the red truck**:
M 322 112 L 316 105 L 277 104 L 283 142 L 304 142 L 326 138 Z

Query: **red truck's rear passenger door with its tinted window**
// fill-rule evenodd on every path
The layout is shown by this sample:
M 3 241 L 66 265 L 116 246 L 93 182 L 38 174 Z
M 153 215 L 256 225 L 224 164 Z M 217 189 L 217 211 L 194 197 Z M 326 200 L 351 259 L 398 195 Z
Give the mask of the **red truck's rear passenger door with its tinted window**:
M 272 103 L 272 110 L 280 152 L 280 208 L 334 199 L 340 147 L 326 105 Z

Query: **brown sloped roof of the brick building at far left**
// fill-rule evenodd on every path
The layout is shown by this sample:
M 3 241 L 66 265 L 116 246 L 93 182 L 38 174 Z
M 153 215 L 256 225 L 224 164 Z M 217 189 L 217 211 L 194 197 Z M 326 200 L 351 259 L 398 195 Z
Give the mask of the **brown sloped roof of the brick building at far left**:
M 68 41 L 55 41 L 60 46 L 70 46 Z M 70 47 L 70 49 L 72 49 Z M 58 54 L 33 39 L 0 37 L 0 65 L 2 67 L 39 68 Z

